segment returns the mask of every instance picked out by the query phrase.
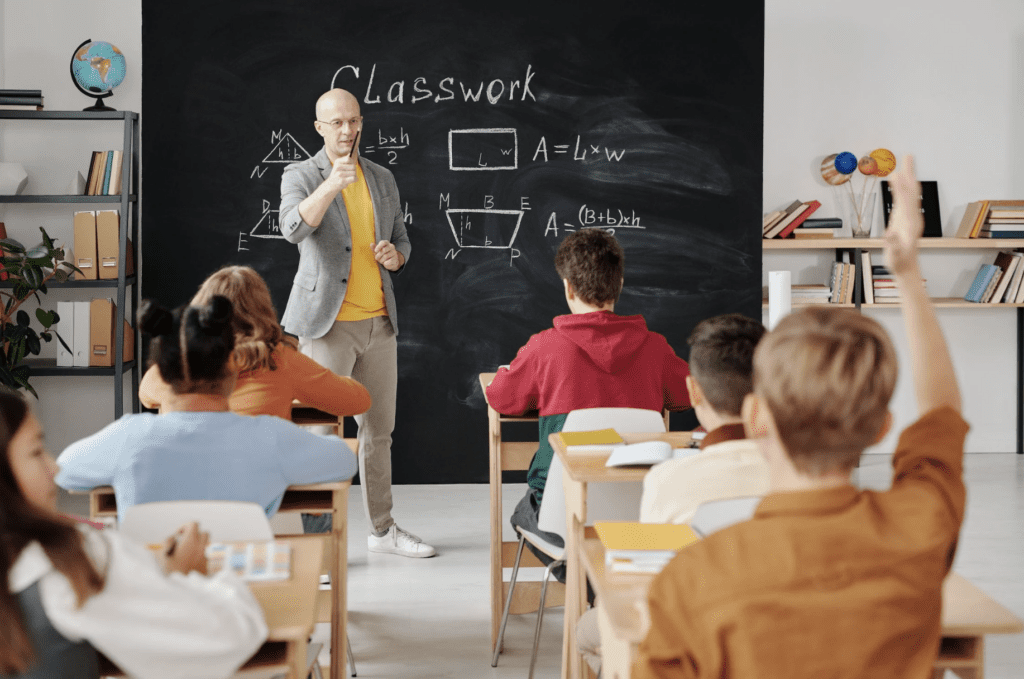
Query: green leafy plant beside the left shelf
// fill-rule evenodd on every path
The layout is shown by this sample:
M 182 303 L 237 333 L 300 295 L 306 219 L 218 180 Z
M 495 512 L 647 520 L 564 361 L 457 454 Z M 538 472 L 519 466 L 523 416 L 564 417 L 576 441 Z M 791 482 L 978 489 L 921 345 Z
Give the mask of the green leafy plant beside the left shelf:
M 0 311 L 0 328 L 3 329 L 3 346 L 0 347 L 0 384 L 13 389 L 26 389 L 36 398 L 39 394 L 29 384 L 31 369 L 25 363 L 26 357 L 39 355 L 42 348 L 40 340 L 49 342 L 56 335 L 66 349 L 71 351 L 68 343 L 51 331 L 59 316 L 56 311 L 42 308 L 42 298 L 39 293 L 46 294 L 46 284 L 50 281 L 63 283 L 72 271 L 81 272 L 71 262 L 65 261 L 63 248 L 58 248 L 53 239 L 42 226 L 43 242 L 34 248 L 26 249 L 14 239 L 0 239 L 0 282 L 7 282 L 10 288 L 0 288 L 2 311 Z M 22 304 L 30 297 L 35 297 L 40 303 L 36 309 L 36 320 L 43 327 L 37 332 L 32 327 L 29 313 L 22 309 Z

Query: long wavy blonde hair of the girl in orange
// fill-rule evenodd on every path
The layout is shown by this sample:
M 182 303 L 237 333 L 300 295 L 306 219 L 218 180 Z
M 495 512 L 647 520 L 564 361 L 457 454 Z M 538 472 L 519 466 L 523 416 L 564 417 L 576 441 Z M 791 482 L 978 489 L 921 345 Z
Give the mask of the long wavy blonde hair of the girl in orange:
M 223 295 L 234 307 L 234 363 L 240 373 L 276 370 L 273 350 L 279 344 L 297 348 L 298 342 L 282 330 L 270 290 L 262 277 L 249 266 L 225 266 L 208 278 L 191 304 L 208 304 L 214 295 Z

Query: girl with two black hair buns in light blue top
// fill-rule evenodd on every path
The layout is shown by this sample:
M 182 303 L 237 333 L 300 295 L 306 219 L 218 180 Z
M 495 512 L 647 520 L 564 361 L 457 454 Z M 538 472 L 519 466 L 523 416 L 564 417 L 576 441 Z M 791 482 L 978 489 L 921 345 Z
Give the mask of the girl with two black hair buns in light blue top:
M 173 313 L 143 305 L 141 330 L 172 396 L 164 415 L 126 415 L 70 445 L 57 484 L 71 491 L 113 485 L 119 518 L 159 500 L 244 500 L 272 515 L 285 489 L 351 478 L 355 459 L 337 436 L 318 436 L 281 418 L 228 412 L 233 391 L 231 303 Z

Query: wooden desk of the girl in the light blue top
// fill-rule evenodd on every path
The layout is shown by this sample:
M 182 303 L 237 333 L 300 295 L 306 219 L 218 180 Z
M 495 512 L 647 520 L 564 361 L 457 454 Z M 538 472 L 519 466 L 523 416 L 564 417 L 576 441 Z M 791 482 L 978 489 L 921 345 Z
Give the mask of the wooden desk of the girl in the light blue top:
M 285 491 L 278 512 L 332 514 L 329 535 L 328 564 L 331 589 L 321 591 L 316 601 L 316 621 L 331 623 L 331 679 L 344 676 L 346 657 L 348 585 L 348 489 L 352 482 L 329 481 L 290 485 Z M 89 517 L 93 520 L 117 518 L 118 505 L 114 489 L 100 485 L 89 491 Z M 292 539 L 291 536 L 288 537 Z

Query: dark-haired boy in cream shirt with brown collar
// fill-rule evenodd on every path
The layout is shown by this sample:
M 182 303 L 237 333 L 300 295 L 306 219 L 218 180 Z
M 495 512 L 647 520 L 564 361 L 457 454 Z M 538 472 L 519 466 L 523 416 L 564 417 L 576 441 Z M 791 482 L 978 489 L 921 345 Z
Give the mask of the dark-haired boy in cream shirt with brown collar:
M 706 502 L 768 492 L 768 464 L 757 441 L 746 438 L 740 416 L 752 388 L 754 350 L 764 334 L 764 326 L 738 313 L 701 321 L 690 333 L 686 389 L 708 435 L 700 441 L 698 455 L 656 464 L 647 472 L 641 521 L 686 523 Z M 577 623 L 577 644 L 599 674 L 601 638 L 596 609 L 588 610 Z

